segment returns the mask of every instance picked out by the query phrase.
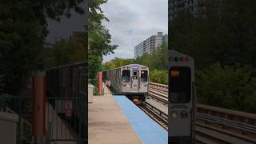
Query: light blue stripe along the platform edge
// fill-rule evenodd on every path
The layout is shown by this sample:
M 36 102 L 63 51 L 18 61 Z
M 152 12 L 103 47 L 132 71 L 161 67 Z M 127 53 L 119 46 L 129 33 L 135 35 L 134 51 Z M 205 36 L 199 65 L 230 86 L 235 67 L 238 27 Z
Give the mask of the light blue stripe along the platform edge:
M 114 95 L 114 98 L 143 143 L 168 143 L 167 130 L 159 126 L 157 122 L 154 122 L 154 120 L 140 110 L 138 106 L 135 106 L 126 96 Z

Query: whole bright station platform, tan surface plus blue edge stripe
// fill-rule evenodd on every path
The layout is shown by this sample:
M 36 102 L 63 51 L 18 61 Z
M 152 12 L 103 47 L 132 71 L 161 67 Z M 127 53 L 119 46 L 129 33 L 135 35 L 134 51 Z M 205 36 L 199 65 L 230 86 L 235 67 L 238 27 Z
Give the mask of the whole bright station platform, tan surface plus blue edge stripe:
M 168 132 L 126 96 L 113 96 L 104 83 L 103 89 L 88 104 L 89 144 L 168 143 Z

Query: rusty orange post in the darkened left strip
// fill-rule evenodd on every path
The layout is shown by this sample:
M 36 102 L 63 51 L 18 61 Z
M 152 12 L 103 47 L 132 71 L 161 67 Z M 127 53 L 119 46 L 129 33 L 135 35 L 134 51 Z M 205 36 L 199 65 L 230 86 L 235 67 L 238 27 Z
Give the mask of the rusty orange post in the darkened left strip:
M 46 143 L 46 72 L 35 71 L 32 76 L 32 143 Z

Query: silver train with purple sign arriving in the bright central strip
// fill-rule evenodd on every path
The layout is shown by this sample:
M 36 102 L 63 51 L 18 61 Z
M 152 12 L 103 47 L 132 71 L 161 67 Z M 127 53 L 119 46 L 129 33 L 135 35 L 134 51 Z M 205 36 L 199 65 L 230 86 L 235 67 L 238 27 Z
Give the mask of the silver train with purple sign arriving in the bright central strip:
M 102 71 L 102 78 L 114 94 L 124 94 L 133 101 L 144 101 L 146 98 L 150 78 L 147 66 L 130 64 Z

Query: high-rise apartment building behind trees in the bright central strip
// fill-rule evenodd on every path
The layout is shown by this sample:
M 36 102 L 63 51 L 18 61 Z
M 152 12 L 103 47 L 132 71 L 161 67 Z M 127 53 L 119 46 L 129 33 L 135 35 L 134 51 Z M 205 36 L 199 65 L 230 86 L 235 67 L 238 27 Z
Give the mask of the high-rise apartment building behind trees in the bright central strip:
M 158 35 L 152 35 L 135 46 L 134 58 L 141 57 L 143 54 L 152 54 L 162 42 L 168 43 L 168 34 L 162 35 L 162 32 L 158 32 Z

